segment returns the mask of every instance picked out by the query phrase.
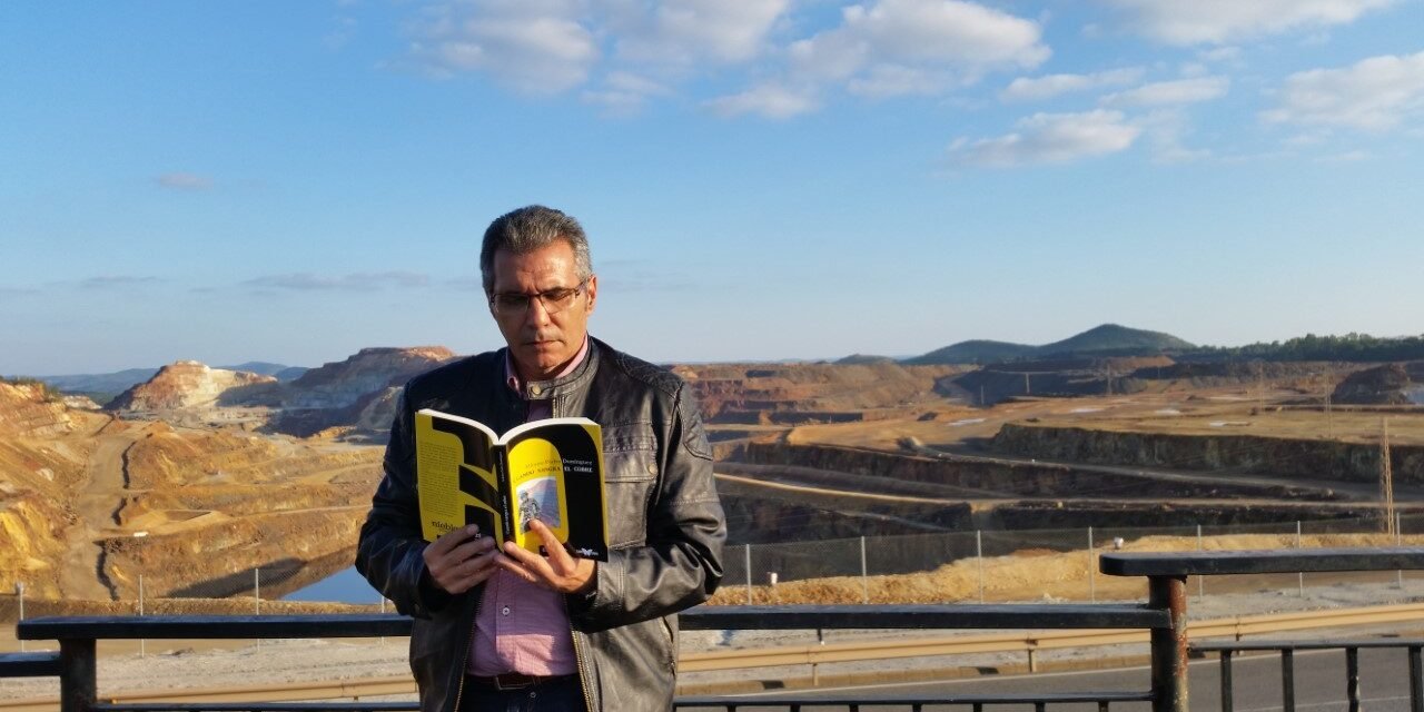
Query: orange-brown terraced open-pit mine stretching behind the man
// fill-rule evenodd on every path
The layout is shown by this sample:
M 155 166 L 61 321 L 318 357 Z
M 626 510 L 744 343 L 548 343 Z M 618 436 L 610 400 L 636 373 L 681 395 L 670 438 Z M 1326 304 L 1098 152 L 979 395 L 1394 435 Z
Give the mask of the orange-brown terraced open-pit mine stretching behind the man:
M 1420 511 L 1424 414 L 1314 407 L 1304 394 L 1316 386 L 1289 372 L 990 399 L 957 387 L 970 369 L 956 366 L 675 370 L 702 402 L 733 545 L 1378 521 L 1386 416 L 1394 511 Z M 322 377 L 326 389 L 336 380 Z M 261 568 L 275 572 L 263 598 L 278 598 L 347 568 L 380 477 L 370 407 L 392 400 L 390 377 L 367 380 L 380 397 L 337 403 L 349 423 L 318 419 L 308 399 L 296 434 L 281 426 L 288 396 L 266 383 L 269 414 L 242 402 L 231 406 L 241 419 L 225 416 L 221 393 L 165 417 L 0 383 L 0 591 L 132 601 L 142 577 L 152 600 L 224 598 L 251 595 Z M 943 562 L 906 554 L 880 568 Z M 0 597 L 0 614 L 13 612 Z

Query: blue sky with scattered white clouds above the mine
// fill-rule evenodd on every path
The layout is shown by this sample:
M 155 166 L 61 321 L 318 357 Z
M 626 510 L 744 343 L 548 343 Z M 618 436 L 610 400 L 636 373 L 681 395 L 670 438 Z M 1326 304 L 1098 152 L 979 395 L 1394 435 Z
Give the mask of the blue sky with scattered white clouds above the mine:
M 1420 0 L 0 3 L 0 373 L 501 345 L 590 235 L 655 362 L 1424 333 Z

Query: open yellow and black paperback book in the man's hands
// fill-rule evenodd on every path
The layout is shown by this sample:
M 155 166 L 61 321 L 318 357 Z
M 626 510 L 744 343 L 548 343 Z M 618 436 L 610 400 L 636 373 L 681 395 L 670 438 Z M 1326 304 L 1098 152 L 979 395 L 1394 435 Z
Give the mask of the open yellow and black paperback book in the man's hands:
M 498 544 L 544 553 L 543 521 L 570 554 L 608 561 L 604 439 L 587 417 L 524 423 L 496 436 L 484 423 L 416 412 L 420 527 L 427 541 L 467 524 Z

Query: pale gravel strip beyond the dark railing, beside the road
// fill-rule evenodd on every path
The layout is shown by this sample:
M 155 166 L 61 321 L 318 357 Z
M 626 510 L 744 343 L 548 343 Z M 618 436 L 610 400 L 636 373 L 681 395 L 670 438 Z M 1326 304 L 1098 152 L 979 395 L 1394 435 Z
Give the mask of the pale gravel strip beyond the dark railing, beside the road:
M 1189 585 L 1189 592 L 1195 590 Z M 1415 602 L 1424 600 L 1424 581 L 1407 581 L 1401 590 L 1394 582 L 1307 585 L 1306 595 L 1296 588 L 1259 590 L 1239 594 L 1219 594 L 1198 598 L 1190 595 L 1189 611 L 1193 619 L 1229 618 L 1319 608 L 1354 608 L 1376 604 Z M 1034 601 L 1054 602 L 1054 601 Z M 1408 628 L 1408 627 L 1404 627 Z M 1420 628 L 1424 628 L 1421 621 Z M 13 631 L 6 631 L 11 634 Z M 970 631 L 964 631 L 970 632 Z M 1350 631 L 1351 634 L 1368 631 Z M 1384 632 L 1384 631 L 1380 631 Z M 1387 632 L 1404 632 L 1400 625 Z M 1304 631 L 1294 635 L 1321 635 L 1320 631 Z M 827 631 L 826 642 L 840 642 L 867 638 L 931 637 L 933 631 Z M 772 648 L 790 645 L 813 645 L 815 631 L 684 631 L 682 649 L 711 651 L 729 648 Z M 10 645 L 4 645 L 10 644 Z M 131 691 L 155 691 L 174 688 L 241 688 L 303 681 L 353 681 L 393 678 L 409 675 L 406 666 L 406 641 L 262 641 L 258 644 L 235 644 L 231 648 L 214 648 L 211 642 L 194 641 L 185 646 L 182 641 L 151 641 L 140 655 L 137 644 L 100 645 L 100 692 L 118 693 Z M 0 646 L 14 649 L 13 641 L 0 641 Z M 197 646 L 204 646 L 198 649 Z M 30 649 L 37 649 L 31 645 Z M 1045 651 L 1040 661 L 1045 668 L 1075 666 L 1091 661 L 1108 664 L 1141 659 L 1146 655 L 1145 645 L 1098 646 L 1075 651 Z M 1024 668 L 1022 654 L 983 654 L 944 658 L 893 659 L 857 664 L 822 665 L 817 675 L 827 679 L 854 679 L 874 675 L 914 675 L 926 671 L 948 671 L 944 674 L 1008 674 Z M 759 681 L 780 681 L 787 685 L 805 682 L 810 669 L 805 665 L 787 668 L 685 674 L 681 678 L 688 691 L 705 692 L 739 684 L 760 686 Z M 0 699 L 31 699 L 58 693 L 56 679 L 6 679 L 0 681 Z

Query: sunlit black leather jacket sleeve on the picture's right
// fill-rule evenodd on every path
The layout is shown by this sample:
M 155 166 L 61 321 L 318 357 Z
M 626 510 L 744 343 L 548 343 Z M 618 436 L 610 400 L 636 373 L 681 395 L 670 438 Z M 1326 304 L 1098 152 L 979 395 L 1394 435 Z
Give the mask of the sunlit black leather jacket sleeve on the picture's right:
M 722 581 L 726 518 L 712 480 L 712 449 L 685 384 L 672 410 L 644 545 L 609 551 L 594 592 L 571 602 L 571 617 L 588 628 L 675 614 L 706 601 Z

